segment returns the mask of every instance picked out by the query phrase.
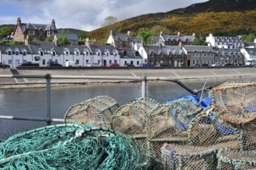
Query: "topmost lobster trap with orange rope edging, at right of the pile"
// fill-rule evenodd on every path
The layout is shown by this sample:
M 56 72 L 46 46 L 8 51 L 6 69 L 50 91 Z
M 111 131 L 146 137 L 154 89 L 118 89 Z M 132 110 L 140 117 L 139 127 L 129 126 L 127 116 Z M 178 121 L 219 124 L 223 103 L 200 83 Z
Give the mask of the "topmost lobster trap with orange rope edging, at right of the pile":
M 225 121 L 245 124 L 256 118 L 256 82 L 227 82 L 212 93 L 215 109 Z

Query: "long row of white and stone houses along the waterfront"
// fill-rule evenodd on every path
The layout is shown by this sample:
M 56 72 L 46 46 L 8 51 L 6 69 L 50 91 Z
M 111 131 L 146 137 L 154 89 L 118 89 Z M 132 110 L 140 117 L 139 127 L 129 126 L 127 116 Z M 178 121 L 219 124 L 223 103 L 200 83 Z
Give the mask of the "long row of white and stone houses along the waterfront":
M 247 59 L 254 57 L 256 53 L 256 49 L 225 49 L 227 52 L 222 51 L 221 53 L 218 50 L 221 49 L 213 49 L 209 46 L 140 46 L 138 50 L 135 50 L 116 49 L 110 45 L 55 46 L 54 42 L 29 42 L 27 45 L 0 45 L 0 62 L 9 64 L 11 67 L 29 61 L 39 63 L 40 66 L 47 66 L 48 61 L 56 61 L 62 66 L 65 66 L 67 61 L 74 61 L 77 66 L 89 66 L 91 63 L 102 63 L 105 66 L 111 63 L 119 63 L 120 66 L 132 63 L 134 66 L 139 66 L 140 63 L 151 65 L 152 63 L 154 65 L 166 63 L 167 60 L 163 57 L 165 55 L 173 58 L 168 59 L 170 66 L 173 66 L 171 62 L 195 66 L 197 63 L 239 62 L 243 64 Z M 249 56 L 247 55 L 250 53 L 248 50 L 253 51 Z M 153 51 L 158 53 L 160 59 L 152 60 Z M 202 55 L 198 56 L 199 53 Z M 223 54 L 224 58 L 220 54 Z M 161 59 L 161 55 L 163 59 Z M 175 55 L 180 57 L 175 58 Z

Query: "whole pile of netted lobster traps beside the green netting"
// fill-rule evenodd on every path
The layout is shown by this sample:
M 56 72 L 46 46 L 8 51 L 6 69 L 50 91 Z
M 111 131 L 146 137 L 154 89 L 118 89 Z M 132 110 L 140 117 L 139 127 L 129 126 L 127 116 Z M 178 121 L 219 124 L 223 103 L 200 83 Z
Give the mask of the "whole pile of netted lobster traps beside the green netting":
M 223 83 L 213 88 L 210 99 L 207 107 L 186 97 L 168 104 L 137 98 L 119 107 L 111 97 L 95 97 L 67 110 L 65 123 L 133 136 L 147 148 L 150 168 L 225 169 L 233 166 L 230 162 L 246 162 L 247 154 L 256 151 L 256 82 Z M 248 165 L 254 167 L 240 167 Z

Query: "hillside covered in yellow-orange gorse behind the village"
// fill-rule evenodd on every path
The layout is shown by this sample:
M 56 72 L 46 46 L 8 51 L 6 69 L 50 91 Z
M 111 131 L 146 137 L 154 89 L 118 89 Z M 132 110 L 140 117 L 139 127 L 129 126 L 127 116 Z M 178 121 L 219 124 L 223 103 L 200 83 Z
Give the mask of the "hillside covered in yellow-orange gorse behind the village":
M 165 34 L 208 36 L 209 33 L 234 36 L 256 32 L 256 0 L 209 0 L 170 12 L 139 15 L 116 22 L 113 32 L 137 34 L 140 28 L 164 26 Z M 118 18 L 118 16 L 117 16 Z M 90 38 L 106 39 L 109 26 L 88 32 Z

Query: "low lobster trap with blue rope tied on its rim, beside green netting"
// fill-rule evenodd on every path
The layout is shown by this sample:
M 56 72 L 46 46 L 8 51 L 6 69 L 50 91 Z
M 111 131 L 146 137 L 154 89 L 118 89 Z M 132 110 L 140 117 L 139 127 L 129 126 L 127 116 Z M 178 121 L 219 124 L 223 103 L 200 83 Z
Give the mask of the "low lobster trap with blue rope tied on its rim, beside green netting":
M 215 169 L 216 149 L 164 144 L 161 147 L 164 169 Z

